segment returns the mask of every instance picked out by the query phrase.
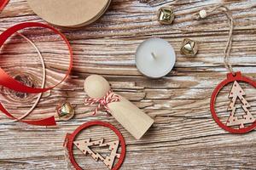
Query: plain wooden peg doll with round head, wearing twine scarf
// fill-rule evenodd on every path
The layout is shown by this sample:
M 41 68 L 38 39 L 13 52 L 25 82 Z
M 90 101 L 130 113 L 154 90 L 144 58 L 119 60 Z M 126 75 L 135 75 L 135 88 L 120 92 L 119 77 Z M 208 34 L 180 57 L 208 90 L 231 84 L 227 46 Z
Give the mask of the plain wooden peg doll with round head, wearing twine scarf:
M 143 113 L 136 105 L 133 105 L 129 100 L 123 98 L 119 94 L 110 91 L 108 81 L 98 75 L 87 77 L 84 82 L 84 91 L 91 100 L 89 104 L 100 103 L 125 129 L 134 136 L 135 139 L 141 139 L 143 134 L 152 126 L 154 120 Z M 110 92 L 110 93 L 109 93 Z M 118 101 L 106 102 L 108 96 L 118 98 Z M 107 99 L 106 99 L 107 98 Z M 87 103 L 87 102 L 85 102 Z

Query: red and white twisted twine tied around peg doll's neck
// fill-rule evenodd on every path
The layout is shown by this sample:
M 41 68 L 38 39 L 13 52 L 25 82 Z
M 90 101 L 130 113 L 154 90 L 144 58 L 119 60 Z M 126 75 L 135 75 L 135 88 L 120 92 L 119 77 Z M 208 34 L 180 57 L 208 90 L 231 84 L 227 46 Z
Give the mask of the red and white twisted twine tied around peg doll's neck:
M 108 114 L 110 114 L 110 110 L 108 108 L 108 104 L 112 102 L 119 101 L 119 96 L 117 94 L 113 94 L 111 90 L 108 91 L 108 93 L 102 98 L 102 99 L 85 99 L 84 105 L 95 105 L 98 104 L 95 111 L 93 112 L 93 115 L 96 115 L 96 113 L 100 110 L 107 111 Z

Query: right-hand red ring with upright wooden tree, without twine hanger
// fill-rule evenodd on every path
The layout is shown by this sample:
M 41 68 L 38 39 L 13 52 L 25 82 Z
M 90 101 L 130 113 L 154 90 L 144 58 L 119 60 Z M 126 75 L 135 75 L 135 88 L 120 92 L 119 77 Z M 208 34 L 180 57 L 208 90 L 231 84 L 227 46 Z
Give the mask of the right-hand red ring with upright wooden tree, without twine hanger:
M 227 75 L 227 79 L 225 79 L 223 82 L 218 84 L 217 88 L 214 89 L 212 93 L 210 109 L 212 112 L 212 117 L 214 121 L 218 123 L 219 127 L 222 127 L 224 130 L 230 133 L 248 133 L 256 127 L 256 121 L 252 113 L 248 111 L 248 108 L 250 107 L 250 105 L 247 102 L 247 100 L 243 97 L 245 95 L 245 92 L 242 90 L 238 82 L 246 82 L 247 84 L 250 84 L 253 88 L 256 88 L 256 82 L 254 82 L 248 77 L 243 77 L 241 75 L 241 72 L 235 72 L 234 75 L 232 73 L 229 73 Z M 230 90 L 230 95 L 229 95 L 229 98 L 231 98 L 230 105 L 228 107 L 228 111 L 230 111 L 230 116 L 227 119 L 227 121 L 224 123 L 220 121 L 220 118 L 218 117 L 217 112 L 215 111 L 215 105 L 216 105 L 215 103 L 216 103 L 216 98 L 219 92 L 221 91 L 221 89 L 230 83 L 233 83 L 233 86 Z M 237 107 L 235 104 L 237 99 L 241 100 L 241 105 L 239 105 L 239 107 L 241 107 L 245 112 L 242 115 L 242 118 L 240 119 L 236 116 Z M 244 126 L 245 124 L 250 124 L 250 125 L 246 127 Z M 236 128 L 236 126 L 239 126 L 239 128 Z

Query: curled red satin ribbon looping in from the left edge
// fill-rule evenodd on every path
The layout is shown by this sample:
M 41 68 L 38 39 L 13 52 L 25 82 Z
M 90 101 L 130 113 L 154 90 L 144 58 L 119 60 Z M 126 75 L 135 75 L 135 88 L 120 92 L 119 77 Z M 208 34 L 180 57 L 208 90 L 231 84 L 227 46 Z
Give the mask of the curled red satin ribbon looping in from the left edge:
M 72 48 L 70 46 L 70 43 L 68 42 L 67 38 L 60 31 L 56 30 L 54 27 L 44 25 L 42 23 L 37 23 L 37 22 L 26 22 L 26 23 L 21 23 L 21 24 L 12 26 L 8 30 L 3 31 L 3 33 L 0 35 L 0 48 L 3 46 L 3 43 L 9 37 L 11 37 L 13 34 L 15 34 L 15 32 L 20 31 L 24 28 L 30 28 L 30 27 L 48 28 L 51 31 L 54 31 L 56 34 L 60 35 L 61 38 L 64 40 L 64 42 L 66 42 L 67 48 L 68 48 L 69 53 L 70 53 L 70 63 L 69 63 L 69 67 L 68 67 L 66 76 L 61 80 L 61 82 L 63 82 L 68 77 L 68 75 L 70 74 L 70 72 L 72 70 L 73 50 L 72 50 Z M 13 89 L 13 90 L 18 91 L 18 92 L 23 92 L 23 93 L 28 93 L 28 94 L 44 93 L 44 92 L 48 91 L 49 89 L 55 88 L 56 86 L 61 84 L 61 82 L 59 82 L 55 86 L 49 87 L 49 88 L 31 88 L 31 87 L 27 87 L 26 85 L 23 85 L 20 82 L 16 81 L 13 77 L 10 77 L 5 71 L 3 71 L 2 68 L 0 68 L 0 85 L 2 85 L 5 88 L 10 88 L 10 89 Z M 12 116 L 9 113 L 9 111 L 6 111 L 1 103 L 0 103 L 0 111 L 3 111 L 3 113 L 6 116 L 9 116 L 12 119 L 18 120 L 15 116 Z M 26 122 L 26 123 L 32 124 L 32 125 L 38 125 L 38 126 L 55 126 L 56 125 L 54 116 L 51 116 L 51 117 L 43 119 L 43 120 L 33 120 L 33 121 L 19 120 L 19 121 L 20 122 Z

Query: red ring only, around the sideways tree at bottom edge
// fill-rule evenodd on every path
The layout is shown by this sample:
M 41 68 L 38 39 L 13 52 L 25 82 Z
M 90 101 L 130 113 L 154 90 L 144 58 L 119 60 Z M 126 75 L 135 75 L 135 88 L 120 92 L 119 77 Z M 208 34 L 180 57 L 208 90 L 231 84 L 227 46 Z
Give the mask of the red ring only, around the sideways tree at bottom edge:
M 75 167 L 77 170 L 83 170 L 81 167 L 79 167 L 79 164 L 75 161 L 73 157 L 73 141 L 75 137 L 85 128 L 92 127 L 92 126 L 102 126 L 102 127 L 108 127 L 110 128 L 118 137 L 121 145 L 121 154 L 119 157 L 119 161 L 114 165 L 112 170 L 118 170 L 119 167 L 121 167 L 123 161 L 125 160 L 125 153 L 126 153 L 126 146 L 125 146 L 125 139 L 123 135 L 119 132 L 119 130 L 116 127 L 113 127 L 108 122 L 101 122 L 101 121 L 94 121 L 94 122 L 86 122 L 80 127 L 78 127 L 73 133 L 67 133 L 65 144 L 67 144 L 67 150 L 68 155 L 71 163 L 73 164 L 73 167 Z

